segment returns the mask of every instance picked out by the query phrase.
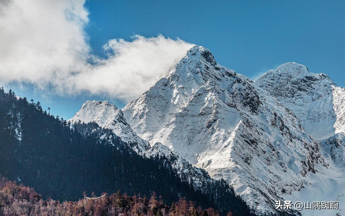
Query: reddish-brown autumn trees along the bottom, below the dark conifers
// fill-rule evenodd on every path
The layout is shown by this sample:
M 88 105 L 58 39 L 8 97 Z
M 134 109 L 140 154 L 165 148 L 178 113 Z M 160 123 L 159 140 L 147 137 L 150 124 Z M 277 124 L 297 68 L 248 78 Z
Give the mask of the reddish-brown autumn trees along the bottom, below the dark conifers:
M 127 196 L 118 191 L 98 199 L 59 202 L 42 199 L 33 188 L 0 180 L 0 216 L 219 216 L 213 208 L 196 207 L 194 202 L 180 198 L 169 207 L 153 192 L 150 199 Z M 228 214 L 230 216 L 231 213 Z

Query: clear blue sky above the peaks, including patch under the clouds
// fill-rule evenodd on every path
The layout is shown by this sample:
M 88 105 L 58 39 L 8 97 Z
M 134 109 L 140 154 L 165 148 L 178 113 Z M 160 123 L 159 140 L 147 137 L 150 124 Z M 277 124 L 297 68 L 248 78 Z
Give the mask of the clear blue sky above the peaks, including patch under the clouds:
M 89 13 L 84 30 L 96 56 L 107 57 L 102 46 L 108 40 L 162 34 L 207 47 L 218 63 L 252 79 L 297 62 L 345 86 L 345 1 L 88 0 L 84 6 Z M 109 100 L 120 108 L 128 102 L 108 94 L 42 96 L 12 88 L 64 118 L 87 99 Z

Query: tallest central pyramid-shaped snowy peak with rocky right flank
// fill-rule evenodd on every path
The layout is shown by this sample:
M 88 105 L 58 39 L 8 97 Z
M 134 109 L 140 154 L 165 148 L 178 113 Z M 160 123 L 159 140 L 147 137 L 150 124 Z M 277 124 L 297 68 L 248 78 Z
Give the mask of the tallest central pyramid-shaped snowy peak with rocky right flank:
M 292 111 L 204 47 L 122 111 L 141 138 L 229 180 L 257 209 L 312 185 L 316 166 L 328 166 Z

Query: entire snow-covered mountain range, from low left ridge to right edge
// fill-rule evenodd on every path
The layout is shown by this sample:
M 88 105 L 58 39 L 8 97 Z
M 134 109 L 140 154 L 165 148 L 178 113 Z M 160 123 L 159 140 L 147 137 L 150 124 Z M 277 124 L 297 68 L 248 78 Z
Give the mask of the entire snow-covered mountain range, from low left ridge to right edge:
M 344 100 L 343 88 L 303 65 L 253 82 L 194 46 L 124 109 L 86 101 L 71 120 L 96 121 L 139 154 L 169 155 L 195 186 L 205 177 L 197 168 L 224 178 L 261 211 L 274 212 L 277 200 L 338 200 L 345 209 Z

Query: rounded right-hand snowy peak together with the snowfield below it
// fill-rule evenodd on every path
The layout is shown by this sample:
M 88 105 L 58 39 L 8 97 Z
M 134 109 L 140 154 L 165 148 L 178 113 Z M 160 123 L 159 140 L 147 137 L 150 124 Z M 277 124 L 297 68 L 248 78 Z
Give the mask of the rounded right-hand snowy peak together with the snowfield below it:
M 313 176 L 311 187 L 295 193 L 296 197 L 336 199 L 344 205 L 345 89 L 326 74 L 311 73 L 293 62 L 266 72 L 255 83 L 294 112 L 306 132 L 321 142 L 329 163 Z

